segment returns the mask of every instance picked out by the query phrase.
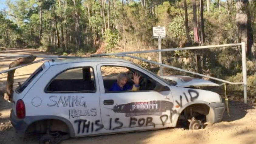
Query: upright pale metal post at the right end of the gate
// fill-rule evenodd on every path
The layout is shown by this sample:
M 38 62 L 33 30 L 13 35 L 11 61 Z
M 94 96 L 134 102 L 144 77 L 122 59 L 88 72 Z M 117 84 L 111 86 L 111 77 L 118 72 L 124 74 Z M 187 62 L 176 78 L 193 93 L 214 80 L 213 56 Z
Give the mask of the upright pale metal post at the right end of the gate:
M 247 104 L 247 72 L 246 72 L 246 47 L 245 42 L 242 42 L 242 68 L 243 68 L 243 83 L 244 83 L 244 103 Z

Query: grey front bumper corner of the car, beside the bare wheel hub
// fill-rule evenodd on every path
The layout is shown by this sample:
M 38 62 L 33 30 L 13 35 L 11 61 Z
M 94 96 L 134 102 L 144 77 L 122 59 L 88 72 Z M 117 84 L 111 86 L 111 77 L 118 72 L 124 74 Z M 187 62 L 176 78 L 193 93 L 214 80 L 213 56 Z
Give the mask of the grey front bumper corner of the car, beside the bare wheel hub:
M 207 116 L 207 122 L 220 122 L 225 111 L 225 104 L 222 102 L 210 103 L 210 112 Z

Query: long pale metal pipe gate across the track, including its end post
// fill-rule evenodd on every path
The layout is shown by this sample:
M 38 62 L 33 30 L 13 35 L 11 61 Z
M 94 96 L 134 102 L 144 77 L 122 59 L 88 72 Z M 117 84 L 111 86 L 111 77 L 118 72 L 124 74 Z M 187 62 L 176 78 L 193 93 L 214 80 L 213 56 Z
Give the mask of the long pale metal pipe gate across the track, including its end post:
M 154 61 L 148 61 L 146 59 L 142 59 L 142 58 L 138 58 L 138 57 L 135 57 L 135 56 L 128 55 L 128 54 L 136 54 L 136 53 L 167 52 L 167 51 L 192 50 L 192 49 L 206 49 L 206 48 L 217 48 L 217 47 L 239 46 L 239 45 L 241 45 L 241 49 L 242 49 L 243 82 L 229 82 L 229 81 L 226 81 L 226 80 L 223 80 L 223 79 L 214 78 L 214 77 L 203 75 L 203 74 L 196 73 L 196 72 L 190 72 L 188 70 L 176 68 L 176 67 L 173 67 L 173 66 L 170 66 L 170 65 L 165 65 L 165 64 L 158 63 L 158 62 L 154 62 Z M 110 56 L 110 55 L 114 55 L 116 57 L 126 56 L 126 57 L 130 57 L 130 58 L 134 58 L 134 59 L 140 59 L 142 61 L 154 63 L 156 65 L 162 65 L 162 66 L 165 66 L 165 67 L 168 67 L 168 68 L 171 68 L 171 69 L 176 69 L 176 70 L 179 70 L 179 71 L 182 71 L 182 72 L 192 73 L 194 75 L 200 75 L 200 76 L 207 77 L 207 78 L 210 78 L 210 79 L 214 79 L 214 80 L 217 80 L 217 81 L 220 81 L 220 82 L 226 82 L 226 83 L 229 83 L 229 84 L 232 84 L 232 85 L 243 84 L 243 86 L 244 86 L 244 103 L 247 104 L 246 48 L 245 48 L 245 43 L 244 42 L 237 43 L 237 44 L 206 45 L 206 46 L 194 46 L 194 47 L 185 47 L 185 48 L 177 48 L 177 49 L 161 49 L 161 50 L 147 50 L 147 51 L 135 51 L 135 52 L 119 52 L 119 53 L 97 54 L 97 55 L 90 55 L 90 57 Z M 1 56 L 27 57 L 29 55 L 0 54 L 0 57 Z M 58 59 L 58 58 L 64 58 L 64 59 L 67 59 L 67 58 L 81 58 L 81 57 L 76 57 L 76 56 L 56 56 L 56 55 L 36 55 L 36 56 L 38 58 L 48 58 L 48 59 L 41 59 L 41 60 L 32 62 L 30 64 L 33 64 L 33 63 L 36 63 L 36 62 L 40 62 L 40 61 L 44 61 L 44 60 L 52 60 L 52 59 Z M 30 65 L 30 64 L 27 64 L 27 65 Z M 24 66 L 26 66 L 26 65 L 20 65 L 20 66 L 14 67 L 12 69 L 1 71 L 0 74 L 4 73 L 4 72 L 9 72 L 11 70 L 18 69 L 18 68 L 21 68 L 21 67 L 24 67 Z

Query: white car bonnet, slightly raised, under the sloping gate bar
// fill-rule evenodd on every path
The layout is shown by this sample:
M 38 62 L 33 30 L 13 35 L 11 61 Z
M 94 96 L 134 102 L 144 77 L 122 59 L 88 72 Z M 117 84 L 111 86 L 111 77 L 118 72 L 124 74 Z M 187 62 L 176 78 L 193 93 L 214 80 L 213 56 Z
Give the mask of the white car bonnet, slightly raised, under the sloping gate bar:
M 164 79 L 169 79 L 177 82 L 176 86 L 189 87 L 189 86 L 219 86 L 217 83 L 210 82 L 204 79 L 197 79 L 190 76 L 184 75 L 165 75 L 161 76 Z

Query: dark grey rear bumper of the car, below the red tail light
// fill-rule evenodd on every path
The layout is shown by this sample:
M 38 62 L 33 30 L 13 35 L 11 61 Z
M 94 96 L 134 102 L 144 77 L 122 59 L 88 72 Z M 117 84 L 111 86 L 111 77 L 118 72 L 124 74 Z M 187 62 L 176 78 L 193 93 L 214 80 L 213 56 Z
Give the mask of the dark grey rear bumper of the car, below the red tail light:
M 12 126 L 15 128 L 17 135 L 24 136 L 28 127 L 28 124 L 25 122 L 25 120 L 17 118 L 17 116 L 14 115 L 13 110 L 11 110 L 10 120 Z

